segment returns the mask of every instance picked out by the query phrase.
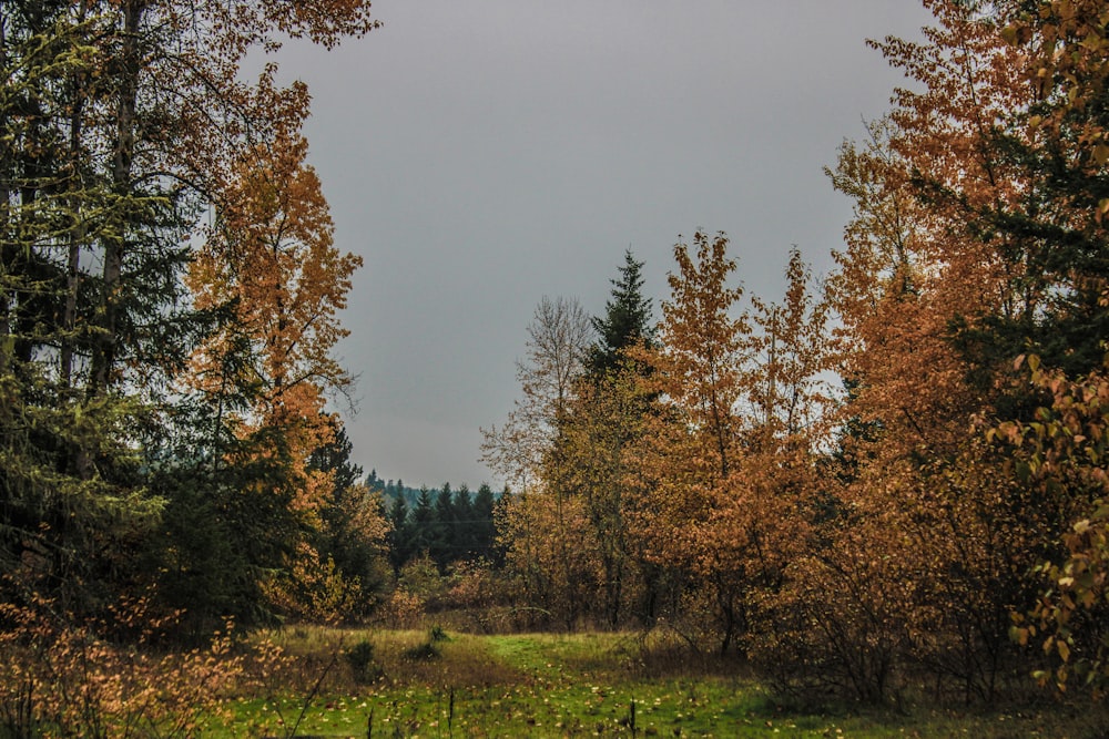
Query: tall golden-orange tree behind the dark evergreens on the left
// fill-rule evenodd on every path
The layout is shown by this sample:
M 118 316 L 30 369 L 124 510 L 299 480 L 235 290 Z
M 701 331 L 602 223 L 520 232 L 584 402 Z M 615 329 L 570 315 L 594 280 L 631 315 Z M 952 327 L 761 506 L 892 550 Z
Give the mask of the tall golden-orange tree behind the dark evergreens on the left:
M 255 484 L 287 495 L 299 526 L 313 532 L 335 491 L 333 472 L 308 461 L 334 441 L 337 419 L 325 410 L 325 393 L 344 393 L 352 382 L 333 350 L 347 335 L 337 311 L 362 259 L 334 246 L 319 179 L 304 161 L 307 142 L 278 135 L 235 163 L 192 264 L 197 307 L 230 314 L 194 356 L 192 381 L 212 397 L 234 390 L 248 398 L 227 420 L 236 437 L 255 443 L 237 447 L 227 461 L 242 466 L 267 459 L 269 473 Z M 232 367 L 236 373 L 228 377 Z M 376 528 L 384 537 L 384 520 Z M 334 605 L 357 597 L 358 583 L 345 583 L 307 538 L 294 546 L 288 571 L 271 583 L 272 597 L 286 612 L 334 618 Z

